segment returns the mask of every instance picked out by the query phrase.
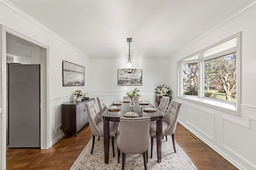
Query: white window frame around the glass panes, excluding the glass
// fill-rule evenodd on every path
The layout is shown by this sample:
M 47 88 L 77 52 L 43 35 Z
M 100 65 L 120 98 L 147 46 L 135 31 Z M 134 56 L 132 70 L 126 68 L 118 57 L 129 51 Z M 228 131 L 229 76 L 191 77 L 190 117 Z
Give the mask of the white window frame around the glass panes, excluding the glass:
M 206 50 L 212 49 L 220 44 L 223 44 L 231 39 L 237 38 L 237 45 L 234 48 L 230 48 L 225 51 L 221 51 L 214 55 L 210 55 L 208 57 L 203 57 L 203 54 Z M 223 55 L 227 55 L 230 53 L 236 52 L 236 60 L 237 60 L 237 70 L 236 70 L 236 106 L 234 102 L 219 100 L 214 98 L 204 97 L 204 61 L 214 59 L 216 57 L 221 57 Z M 197 59 L 194 57 L 197 56 Z M 192 58 L 191 60 L 189 58 Z M 194 59 L 193 59 L 194 58 Z M 188 63 L 198 63 L 198 96 L 190 96 L 190 95 L 183 95 L 183 64 Z M 213 109 L 217 109 L 220 111 L 224 111 L 233 115 L 241 116 L 240 114 L 240 103 L 241 103 L 241 89 L 240 89 L 240 82 L 241 82 L 241 32 L 236 33 L 222 41 L 214 43 L 209 47 L 206 47 L 192 55 L 189 55 L 177 63 L 178 68 L 178 98 L 182 100 L 187 100 L 189 102 L 197 103 L 206 107 L 211 107 Z

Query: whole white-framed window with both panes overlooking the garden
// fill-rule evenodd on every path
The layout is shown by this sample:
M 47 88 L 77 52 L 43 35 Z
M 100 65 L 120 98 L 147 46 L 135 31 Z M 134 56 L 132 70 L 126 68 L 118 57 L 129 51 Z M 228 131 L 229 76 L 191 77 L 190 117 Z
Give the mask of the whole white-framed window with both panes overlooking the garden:
M 178 97 L 239 115 L 240 33 L 178 61 L 178 66 Z

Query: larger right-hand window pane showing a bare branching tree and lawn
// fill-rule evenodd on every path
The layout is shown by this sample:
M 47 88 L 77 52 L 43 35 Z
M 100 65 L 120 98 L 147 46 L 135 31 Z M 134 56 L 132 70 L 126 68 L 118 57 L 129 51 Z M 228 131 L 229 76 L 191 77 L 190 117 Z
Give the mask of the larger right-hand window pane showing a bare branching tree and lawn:
M 236 53 L 204 61 L 204 96 L 236 102 Z

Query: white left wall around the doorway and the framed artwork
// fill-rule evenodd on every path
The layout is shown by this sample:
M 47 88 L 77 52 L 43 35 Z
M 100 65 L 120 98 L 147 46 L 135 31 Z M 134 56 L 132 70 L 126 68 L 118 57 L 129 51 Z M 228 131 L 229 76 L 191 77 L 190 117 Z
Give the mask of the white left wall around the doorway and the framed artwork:
M 14 9 L 14 10 L 13 10 Z M 45 29 L 36 21 L 33 21 L 30 17 L 26 16 L 19 10 L 16 10 L 9 4 L 6 4 L 5 1 L 0 0 L 0 24 L 4 25 L 13 31 L 24 35 L 24 37 L 28 37 L 29 39 L 33 39 L 45 46 L 49 47 L 49 51 L 41 51 L 41 53 L 49 54 L 49 70 L 44 69 L 45 75 L 47 71 L 49 71 L 49 86 L 48 89 L 50 91 L 49 98 L 47 101 L 47 106 L 49 107 L 49 113 L 47 119 L 47 129 L 49 131 L 48 139 L 44 139 L 45 141 L 49 141 L 49 147 L 52 146 L 56 141 L 62 137 L 63 133 L 60 130 L 61 126 L 61 104 L 64 102 L 68 102 L 73 100 L 71 95 L 72 92 L 76 89 L 81 89 L 83 91 L 89 90 L 88 86 L 72 86 L 72 87 L 62 87 L 62 60 L 66 60 L 72 63 L 80 64 L 85 66 L 85 68 L 89 67 L 89 59 L 88 57 L 74 48 L 72 45 L 66 43 L 63 39 L 59 38 L 57 35 L 52 33 L 50 30 Z M 5 49 L 1 50 L 1 61 L 0 61 L 0 70 L 4 68 L 5 63 L 2 61 L 6 61 L 2 59 L 2 57 L 6 57 Z M 44 55 L 45 56 L 45 55 Z M 47 62 L 46 62 L 47 64 Z M 88 71 L 86 71 L 85 77 L 89 77 Z M 4 127 L 2 127 L 2 120 L 6 119 L 6 111 L 3 110 L 3 105 L 6 103 L 6 98 L 2 98 L 2 92 L 6 89 L 2 87 L 2 74 L 0 76 L 0 89 L 1 89 L 1 99 L 0 99 L 0 122 L 1 122 L 1 157 L 0 164 L 1 169 L 5 169 L 5 150 L 6 150 L 6 141 L 2 139 L 5 136 Z M 47 88 L 47 87 L 46 87 Z M 45 90 L 45 89 L 44 89 Z M 44 91 L 46 93 L 46 91 Z M 46 106 L 44 106 L 46 107 Z M 46 109 L 43 109 L 41 114 L 46 115 Z M 45 120 L 44 120 L 45 121 Z M 41 129 L 41 133 L 46 133 L 47 129 Z

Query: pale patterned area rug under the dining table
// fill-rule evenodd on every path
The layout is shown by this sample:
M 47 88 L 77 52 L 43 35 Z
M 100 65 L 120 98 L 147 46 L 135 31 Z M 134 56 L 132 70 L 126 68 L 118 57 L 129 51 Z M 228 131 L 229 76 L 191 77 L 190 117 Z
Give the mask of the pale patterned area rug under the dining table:
M 121 170 L 122 169 L 122 153 L 120 163 L 117 162 L 117 146 L 115 143 L 115 157 L 113 157 L 112 145 L 110 141 L 109 161 L 104 162 L 104 143 L 103 137 L 100 141 L 95 140 L 94 150 L 91 154 L 92 139 L 86 145 L 80 156 L 74 162 L 70 170 Z M 162 141 L 162 162 L 157 162 L 156 156 L 156 139 L 154 139 L 153 156 L 150 158 L 150 148 L 148 149 L 148 170 L 197 170 L 188 156 L 183 152 L 177 143 L 176 153 L 172 147 L 172 139 L 168 136 L 168 141 Z M 142 154 L 126 154 L 125 169 L 127 170 L 143 170 L 144 161 Z

